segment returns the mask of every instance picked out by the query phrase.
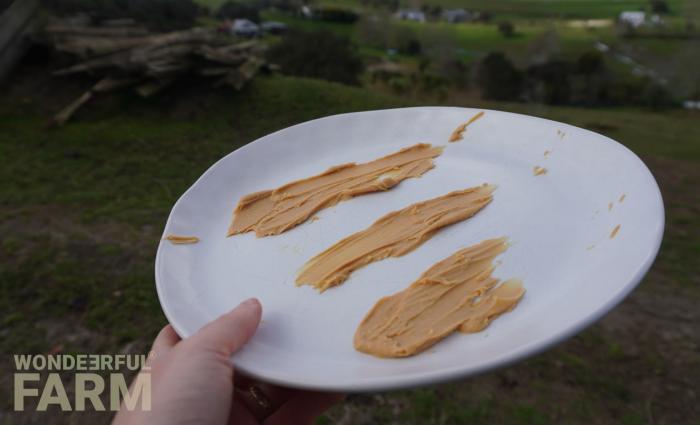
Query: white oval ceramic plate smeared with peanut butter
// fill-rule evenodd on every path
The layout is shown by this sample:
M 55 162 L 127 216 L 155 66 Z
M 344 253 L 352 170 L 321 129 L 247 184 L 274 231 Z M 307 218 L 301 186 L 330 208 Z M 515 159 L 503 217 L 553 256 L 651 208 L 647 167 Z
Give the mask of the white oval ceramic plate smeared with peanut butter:
M 257 297 L 263 323 L 234 356 L 237 368 L 271 383 L 335 391 L 473 375 L 522 360 L 593 323 L 639 283 L 659 249 L 664 209 L 654 178 L 607 137 L 524 115 L 487 110 L 463 140 L 446 143 L 477 112 L 426 107 L 330 116 L 222 158 L 182 195 L 165 226 L 164 235 L 201 241 L 161 241 L 158 247 L 156 287 L 170 323 L 187 337 Z M 226 237 L 232 210 L 245 194 L 418 142 L 447 145 L 422 178 L 341 202 L 318 214 L 320 220 L 279 236 Z M 547 174 L 534 176 L 534 166 Z M 383 214 L 484 182 L 498 185 L 493 202 L 415 251 L 370 264 L 323 294 L 294 285 L 309 258 Z M 499 236 L 508 236 L 512 246 L 498 258 L 494 275 L 520 278 L 527 289 L 515 310 L 483 332 L 455 333 L 410 358 L 379 359 L 354 350 L 355 329 L 379 298 L 404 289 L 458 249 Z

